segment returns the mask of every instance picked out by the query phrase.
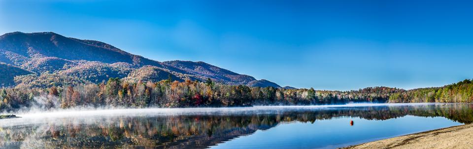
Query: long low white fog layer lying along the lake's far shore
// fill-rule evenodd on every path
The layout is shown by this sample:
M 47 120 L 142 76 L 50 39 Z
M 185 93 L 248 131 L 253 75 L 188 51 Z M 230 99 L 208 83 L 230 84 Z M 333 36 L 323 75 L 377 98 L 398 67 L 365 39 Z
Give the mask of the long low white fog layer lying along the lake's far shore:
M 353 107 L 374 106 L 419 106 L 433 105 L 439 103 L 383 103 L 383 104 L 346 104 L 346 105 L 314 105 L 314 106 L 254 106 L 254 107 L 231 107 L 231 108 L 144 108 L 144 109 L 116 109 L 110 107 L 102 108 L 74 108 L 55 109 L 48 111 L 21 111 L 15 115 L 21 118 L 0 119 L 0 127 L 28 125 L 28 124 L 56 124 L 67 123 L 90 123 L 97 119 L 121 119 L 127 117 L 174 117 L 174 116 L 208 116 L 208 115 L 268 115 L 284 112 L 316 112 L 321 110 L 338 110 Z M 447 104 L 447 103 L 441 103 Z M 454 103 L 453 103 L 454 104 Z

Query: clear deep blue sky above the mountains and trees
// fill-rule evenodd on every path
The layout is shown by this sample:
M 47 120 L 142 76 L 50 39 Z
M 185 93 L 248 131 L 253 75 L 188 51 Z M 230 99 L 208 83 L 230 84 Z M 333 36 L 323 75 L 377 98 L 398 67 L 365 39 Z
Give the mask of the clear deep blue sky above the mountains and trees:
M 0 33 L 53 31 L 281 86 L 412 89 L 473 78 L 471 8 L 456 0 L 0 0 Z

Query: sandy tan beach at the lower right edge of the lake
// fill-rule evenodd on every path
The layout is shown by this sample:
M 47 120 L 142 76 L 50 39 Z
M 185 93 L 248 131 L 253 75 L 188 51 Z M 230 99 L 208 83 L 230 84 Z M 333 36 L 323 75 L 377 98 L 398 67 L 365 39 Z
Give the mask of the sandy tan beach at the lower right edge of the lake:
M 340 149 L 473 149 L 473 124 L 398 136 Z

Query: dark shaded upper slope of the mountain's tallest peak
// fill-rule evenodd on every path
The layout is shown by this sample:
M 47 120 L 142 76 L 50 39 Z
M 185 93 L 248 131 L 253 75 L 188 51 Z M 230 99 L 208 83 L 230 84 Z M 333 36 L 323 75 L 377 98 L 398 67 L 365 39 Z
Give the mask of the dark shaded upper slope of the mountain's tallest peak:
M 6 33 L 0 36 L 0 50 L 27 58 L 56 57 L 66 60 L 160 65 L 157 61 L 132 55 L 100 41 L 68 38 L 54 32 Z

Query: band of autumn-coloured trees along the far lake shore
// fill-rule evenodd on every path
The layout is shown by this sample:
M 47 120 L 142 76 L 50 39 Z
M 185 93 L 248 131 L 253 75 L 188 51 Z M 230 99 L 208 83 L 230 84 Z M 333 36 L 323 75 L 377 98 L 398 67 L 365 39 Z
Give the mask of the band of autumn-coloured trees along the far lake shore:
M 440 88 L 396 89 L 370 87 L 350 91 L 284 89 L 173 81 L 132 82 L 110 78 L 100 84 L 83 83 L 49 88 L 3 88 L 0 111 L 22 107 L 235 107 L 254 105 L 327 105 L 345 103 L 472 102 L 473 83 L 465 80 Z

